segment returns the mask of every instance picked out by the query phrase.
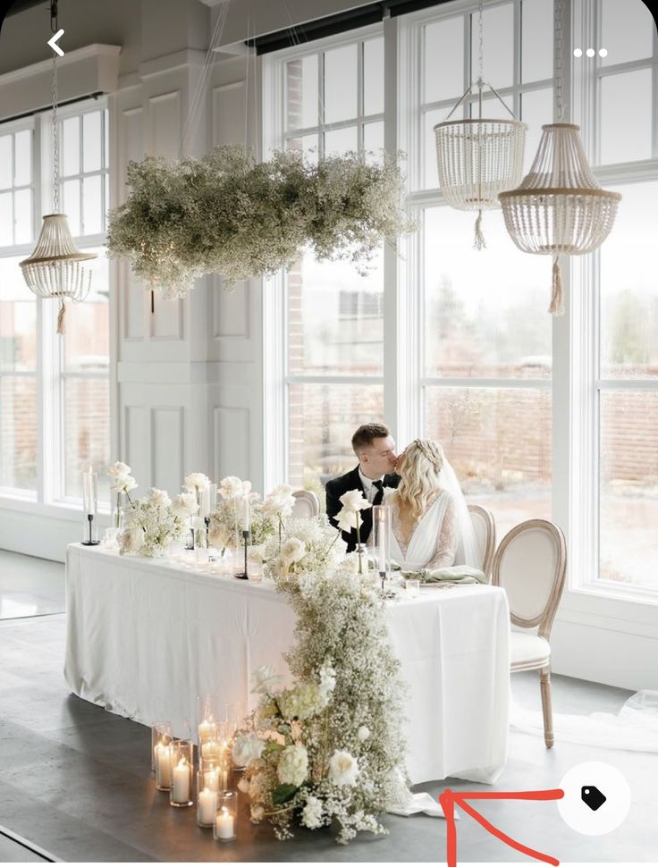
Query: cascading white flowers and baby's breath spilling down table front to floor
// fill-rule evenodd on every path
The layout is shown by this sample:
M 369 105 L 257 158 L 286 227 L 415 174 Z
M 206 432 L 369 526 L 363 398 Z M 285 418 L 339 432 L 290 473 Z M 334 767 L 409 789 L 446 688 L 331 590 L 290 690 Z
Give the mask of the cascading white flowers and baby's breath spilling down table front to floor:
M 339 843 L 384 834 L 378 816 L 405 803 L 408 788 L 404 688 L 383 603 L 367 578 L 342 569 L 286 573 L 277 587 L 298 618 L 286 656 L 295 681 L 277 688 L 272 670 L 259 669 L 257 710 L 234 741 L 251 820 L 271 821 L 280 839 L 293 821 L 335 823 Z

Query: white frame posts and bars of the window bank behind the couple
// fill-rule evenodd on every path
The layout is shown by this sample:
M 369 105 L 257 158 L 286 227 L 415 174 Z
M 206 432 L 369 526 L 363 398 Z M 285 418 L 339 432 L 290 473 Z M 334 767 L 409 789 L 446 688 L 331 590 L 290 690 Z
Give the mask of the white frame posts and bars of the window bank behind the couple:
M 502 4 L 507 0 L 487 2 L 487 7 Z M 519 27 L 519 0 L 515 7 L 515 29 Z M 571 44 L 572 2 L 586 4 L 583 13 L 588 28 L 599 26 L 592 11 L 595 0 L 564 0 L 563 39 Z M 413 181 L 420 180 L 423 160 L 418 147 L 421 130 L 419 116 L 420 51 L 419 39 L 422 25 L 441 17 L 468 14 L 477 10 L 474 0 L 454 0 L 451 4 L 430 7 L 418 13 L 409 13 L 395 19 L 384 20 L 384 147 L 389 152 L 400 148 L 409 154 L 405 169 Z M 579 11 L 578 11 L 578 14 Z M 318 40 L 310 44 L 308 52 L 333 47 L 362 38 L 364 32 L 373 28 L 354 30 L 341 37 Z M 593 40 L 597 44 L 596 30 Z M 468 39 L 468 33 L 465 35 Z M 518 39 L 515 38 L 515 46 Z M 299 46 L 285 49 L 263 58 L 264 75 L 264 155 L 274 147 L 283 146 L 283 68 L 291 57 L 305 53 Z M 564 95 L 569 105 L 571 92 L 571 57 L 565 53 Z M 519 53 L 515 51 L 515 70 L 519 69 Z M 623 64 L 637 68 L 638 63 Z M 642 65 L 640 63 L 639 65 Z M 646 65 L 646 63 L 644 63 Z M 603 75 L 612 74 L 615 67 L 605 67 Z M 400 71 L 403 71 L 400 74 Z M 624 70 L 626 71 L 626 70 Z M 516 79 L 515 75 L 515 79 Z M 654 81 L 658 80 L 658 67 L 654 65 Z M 511 88 L 502 88 L 503 97 L 511 97 L 516 111 L 519 92 L 542 89 L 552 80 L 526 84 L 515 83 Z M 588 89 L 591 85 L 576 80 L 574 95 L 574 118 L 583 124 L 583 139 L 592 152 L 592 130 L 595 116 L 594 99 Z M 583 105 L 583 99 L 586 105 Z M 430 105 L 430 104 L 427 104 Z M 431 104 L 430 107 L 450 108 L 451 101 Z M 555 106 L 553 109 L 555 113 Z M 415 122 L 411 122 L 411 119 Z M 551 118 L 547 118 L 550 122 Z M 658 142 L 658 118 L 654 115 L 654 147 Z M 655 152 L 654 152 L 654 156 Z M 597 170 L 602 184 L 654 179 L 658 162 L 603 166 Z M 409 185 L 411 187 L 411 185 Z M 441 202 L 438 190 L 416 189 L 409 195 L 410 213 L 419 213 L 428 205 Z M 434 377 L 421 376 L 422 355 L 418 351 L 419 316 L 418 305 L 422 303 L 419 286 L 419 264 L 422 262 L 422 238 L 418 232 L 400 243 L 401 257 L 393 251 L 384 254 L 384 417 L 400 442 L 408 442 L 422 430 L 422 387 L 434 384 Z M 647 593 L 645 588 L 628 588 L 627 585 L 612 585 L 595 579 L 594 558 L 598 559 L 597 518 L 598 502 L 593 498 L 598 492 L 598 431 L 595 425 L 596 395 L 600 388 L 612 387 L 599 383 L 595 377 L 598 367 L 597 329 L 594 327 L 598 309 L 595 307 L 595 279 L 598 257 L 573 257 L 570 267 L 564 269 L 567 294 L 567 315 L 553 317 L 553 370 L 551 380 L 527 381 L 523 385 L 552 388 L 553 390 L 553 520 L 563 527 L 569 545 L 569 579 L 561 604 L 561 617 L 571 622 L 591 627 L 612 628 L 633 634 L 658 638 L 658 594 Z M 548 278 L 547 278 L 548 279 Z M 265 473 L 266 484 L 275 484 L 285 476 L 287 467 L 287 413 L 285 391 L 285 332 L 283 279 L 275 278 L 264 291 L 264 362 L 266 419 Z M 583 333 L 586 341 L 578 345 L 571 341 L 571 334 Z M 345 381 L 343 378 L 327 377 L 323 382 Z M 350 378 L 348 378 L 350 379 Z M 354 381 L 362 382 L 359 378 Z M 363 380 L 372 383 L 374 380 Z M 438 384 L 456 384 L 439 379 Z M 459 384 L 477 386 L 477 380 Z M 486 380 L 487 386 L 515 387 L 514 380 Z M 635 383 L 624 382 L 624 387 L 633 388 Z M 653 385 L 642 385 L 653 388 Z M 595 400 L 596 398 L 596 400 Z M 554 408 L 558 408 L 555 411 Z M 586 459 L 584 459 L 586 458 Z M 571 467 L 574 471 L 571 472 Z M 582 492 L 587 495 L 583 496 Z M 596 547 L 595 547 L 596 546 Z

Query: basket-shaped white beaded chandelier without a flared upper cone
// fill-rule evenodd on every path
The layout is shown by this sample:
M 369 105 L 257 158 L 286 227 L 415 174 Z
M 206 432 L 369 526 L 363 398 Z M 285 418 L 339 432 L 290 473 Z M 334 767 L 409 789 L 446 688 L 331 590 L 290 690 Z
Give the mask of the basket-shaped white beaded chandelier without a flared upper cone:
M 497 91 L 482 78 L 483 28 L 482 0 L 478 7 L 479 76 L 477 118 L 451 121 L 452 114 L 473 91 L 469 85 L 457 105 L 442 123 L 434 126 L 439 186 L 447 205 L 459 211 L 477 211 L 476 249 L 486 247 L 482 233 L 482 212 L 500 207 L 498 194 L 516 186 L 523 173 L 523 147 L 527 123 L 517 120 Z M 489 119 L 482 116 L 482 93 L 488 87 L 511 117 Z

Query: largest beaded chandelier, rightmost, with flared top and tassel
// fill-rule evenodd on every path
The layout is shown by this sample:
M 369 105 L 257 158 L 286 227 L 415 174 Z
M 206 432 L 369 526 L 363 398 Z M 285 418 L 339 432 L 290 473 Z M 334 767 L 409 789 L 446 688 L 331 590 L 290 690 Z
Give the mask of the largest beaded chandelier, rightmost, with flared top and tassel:
M 553 256 L 553 293 L 549 313 L 561 316 L 564 299 L 561 255 L 591 253 L 608 237 L 620 193 L 602 189 L 587 164 L 580 128 L 563 122 L 562 3 L 555 8 L 555 96 L 557 123 L 542 127 L 542 139 L 530 171 L 517 189 L 500 193 L 511 240 L 526 253 Z

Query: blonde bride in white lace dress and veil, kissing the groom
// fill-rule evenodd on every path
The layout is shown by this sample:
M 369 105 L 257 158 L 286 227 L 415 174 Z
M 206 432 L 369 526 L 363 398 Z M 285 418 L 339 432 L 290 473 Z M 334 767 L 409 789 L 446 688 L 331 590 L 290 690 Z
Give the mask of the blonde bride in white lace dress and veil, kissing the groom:
M 384 489 L 384 503 L 392 508 L 392 560 L 409 572 L 481 568 L 464 495 L 439 443 L 414 440 L 395 471 L 400 485 Z

